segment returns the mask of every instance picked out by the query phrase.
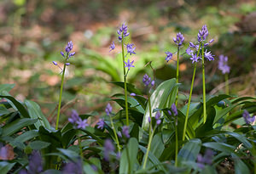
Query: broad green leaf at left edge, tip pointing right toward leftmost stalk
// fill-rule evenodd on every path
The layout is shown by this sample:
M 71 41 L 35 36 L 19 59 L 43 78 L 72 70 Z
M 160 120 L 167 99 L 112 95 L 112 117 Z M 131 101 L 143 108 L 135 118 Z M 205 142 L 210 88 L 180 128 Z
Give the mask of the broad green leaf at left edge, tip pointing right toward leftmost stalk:
M 17 119 L 8 125 L 3 126 L 3 136 L 10 136 L 14 134 L 15 132 L 20 131 L 21 128 L 25 126 L 30 126 L 37 122 L 37 119 L 29 119 L 29 118 L 21 118 Z

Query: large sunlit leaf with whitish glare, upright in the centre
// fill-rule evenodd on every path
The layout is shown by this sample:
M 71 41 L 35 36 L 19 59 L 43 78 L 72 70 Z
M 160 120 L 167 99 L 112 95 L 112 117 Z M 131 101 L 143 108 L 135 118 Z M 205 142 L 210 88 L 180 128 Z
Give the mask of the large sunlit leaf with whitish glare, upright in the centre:
M 173 92 L 173 90 L 175 90 L 177 84 L 176 84 L 176 79 L 172 78 L 168 81 L 164 81 L 160 84 L 159 87 L 157 87 L 154 90 L 154 93 L 152 93 L 151 97 L 150 97 L 150 101 L 151 101 L 151 112 L 153 112 L 153 109 L 164 109 L 164 108 L 169 108 L 171 105 L 166 106 L 166 104 L 169 103 L 168 99 L 169 95 Z M 172 96 L 176 96 L 176 93 L 172 93 Z M 154 117 L 156 114 L 156 112 L 152 113 L 152 116 Z M 148 117 L 149 117 L 149 106 L 147 105 L 146 108 L 146 112 L 145 115 L 143 117 L 143 129 L 147 130 L 149 123 L 148 123 Z

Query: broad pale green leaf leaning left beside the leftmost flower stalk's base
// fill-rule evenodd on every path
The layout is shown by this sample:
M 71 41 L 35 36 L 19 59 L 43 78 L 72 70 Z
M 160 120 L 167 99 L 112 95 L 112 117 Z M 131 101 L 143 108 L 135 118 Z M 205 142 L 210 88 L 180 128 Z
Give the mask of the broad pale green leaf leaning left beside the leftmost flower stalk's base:
M 52 129 L 52 127 L 49 125 L 49 121 L 45 118 L 37 103 L 30 100 L 25 100 L 25 105 L 28 109 L 30 117 L 38 119 L 38 121 L 35 123 L 37 129 L 39 129 L 39 126 L 44 126 L 47 129 Z

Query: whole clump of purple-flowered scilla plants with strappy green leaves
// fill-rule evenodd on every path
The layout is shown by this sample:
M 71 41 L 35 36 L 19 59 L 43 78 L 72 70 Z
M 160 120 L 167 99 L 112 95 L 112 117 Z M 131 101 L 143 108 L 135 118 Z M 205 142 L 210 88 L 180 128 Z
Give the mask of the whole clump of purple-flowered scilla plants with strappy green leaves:
M 198 42 L 189 43 L 186 51 L 195 68 L 199 59 L 212 60 L 212 54 L 204 51 L 209 43 L 205 42 L 207 32 L 204 25 Z M 88 123 L 88 118 L 94 115 L 73 110 L 67 124 L 57 126 L 57 119 L 53 128 L 38 104 L 18 101 L 9 94 L 14 85 L 0 85 L 1 173 L 256 172 L 256 98 L 221 94 L 202 102 L 191 101 L 195 68 L 188 104 L 178 108 L 175 104 L 176 78 L 157 85 L 150 75 L 143 76 L 143 95 L 126 79 L 129 70 L 133 70 L 131 67 L 135 68 L 133 61 L 125 60 L 128 54 L 135 53 L 132 43 L 124 44 L 125 36 L 129 35 L 126 25 L 119 28 L 118 35 L 124 81 L 113 84 L 125 89 L 125 94 L 111 97 L 96 126 Z M 183 41 L 180 34 L 174 40 Z M 61 53 L 65 56 L 61 91 L 72 48 L 73 43 L 68 42 L 66 55 Z M 112 43 L 110 50 L 114 48 Z M 61 97 L 61 108 L 60 101 Z M 116 112 L 113 104 L 115 109 L 119 105 Z

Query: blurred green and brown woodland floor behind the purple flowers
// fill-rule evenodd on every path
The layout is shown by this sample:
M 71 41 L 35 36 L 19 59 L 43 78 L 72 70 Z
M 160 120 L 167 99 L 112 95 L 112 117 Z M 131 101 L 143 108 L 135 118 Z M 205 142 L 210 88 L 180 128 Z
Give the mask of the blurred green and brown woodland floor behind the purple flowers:
M 136 68 L 128 81 L 143 90 L 144 73 L 156 82 L 176 76 L 175 62 L 166 64 L 166 51 L 177 50 L 172 38 L 181 31 L 185 45 L 195 42 L 197 32 L 207 25 L 210 47 L 216 61 L 207 62 L 207 93 L 224 93 L 224 76 L 218 70 L 218 56 L 229 57 L 230 93 L 255 96 L 256 93 L 256 3 L 253 0 L 2 0 L 0 2 L 0 82 L 15 83 L 11 94 L 21 101 L 40 104 L 49 121 L 55 121 L 61 82 L 60 52 L 73 41 L 76 52 L 68 66 L 63 115 L 71 109 L 79 113 L 98 111 L 100 115 L 113 93 L 122 93 L 109 81 L 121 81 L 120 44 L 116 31 L 122 23 L 136 45 Z M 109 53 L 111 42 L 116 49 Z M 175 56 L 174 56 L 174 59 Z M 199 66 L 200 67 L 200 66 Z M 183 54 L 180 63 L 180 104 L 186 102 L 193 67 Z M 201 99 L 201 70 L 195 77 L 194 100 Z M 62 117 L 63 118 L 63 117 Z M 65 119 L 66 120 L 66 119 Z M 64 121 L 64 119 L 63 119 Z

